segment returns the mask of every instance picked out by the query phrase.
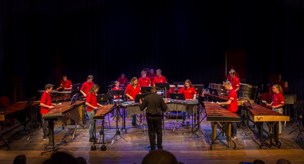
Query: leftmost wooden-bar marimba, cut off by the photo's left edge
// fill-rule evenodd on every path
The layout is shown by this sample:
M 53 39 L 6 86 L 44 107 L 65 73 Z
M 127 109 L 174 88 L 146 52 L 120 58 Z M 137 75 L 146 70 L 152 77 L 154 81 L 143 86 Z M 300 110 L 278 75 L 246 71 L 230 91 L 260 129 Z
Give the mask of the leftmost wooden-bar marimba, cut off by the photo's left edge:
M 12 130 L 20 127 L 20 126 L 24 126 L 24 129 L 26 127 L 26 124 L 30 121 L 30 120 L 26 120 L 26 117 L 30 115 L 30 109 L 31 106 L 25 107 L 27 102 L 18 102 L 16 104 L 13 104 L 7 108 L 4 109 L 4 111 L 1 111 L 0 114 L 0 121 L 5 121 L 5 117 L 10 117 L 10 118 L 15 118 L 17 119 L 20 124 L 13 127 L 12 129 L 7 130 L 6 132 L 2 133 L 1 129 L 0 129 L 0 138 L 1 140 L 6 144 L 7 146 L 7 150 L 9 150 L 9 144 L 2 138 L 3 135 L 11 132 Z M 40 102 L 33 102 L 33 106 L 34 105 L 39 105 Z M 12 120 L 13 122 L 13 120 Z

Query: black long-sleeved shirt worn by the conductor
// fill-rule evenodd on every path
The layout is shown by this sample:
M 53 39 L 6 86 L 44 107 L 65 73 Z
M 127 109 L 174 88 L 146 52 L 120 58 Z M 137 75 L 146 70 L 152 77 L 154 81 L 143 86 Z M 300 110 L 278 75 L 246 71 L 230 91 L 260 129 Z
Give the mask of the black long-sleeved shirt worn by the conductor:
M 145 108 L 147 115 L 161 115 L 161 111 L 167 110 L 167 105 L 164 102 L 164 99 L 157 95 L 155 92 L 152 92 L 150 95 L 147 95 L 143 99 L 143 103 L 140 105 L 140 110 L 143 111 Z

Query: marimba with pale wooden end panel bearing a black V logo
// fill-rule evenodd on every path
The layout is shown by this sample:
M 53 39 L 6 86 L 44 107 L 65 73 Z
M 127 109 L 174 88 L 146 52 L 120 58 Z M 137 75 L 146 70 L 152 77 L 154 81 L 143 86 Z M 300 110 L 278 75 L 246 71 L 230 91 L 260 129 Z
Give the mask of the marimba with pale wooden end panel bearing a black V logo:
M 256 103 L 252 103 L 253 107 L 249 105 L 247 102 L 243 102 L 246 106 L 246 109 L 250 111 L 253 116 L 253 121 L 256 122 L 258 133 L 260 136 L 260 141 L 262 146 L 277 146 L 278 148 L 281 147 L 281 142 L 278 140 L 278 122 L 279 121 L 289 121 L 289 116 L 283 115 L 281 113 L 275 112 L 271 109 L 265 108 L 261 105 L 257 105 Z M 268 124 L 268 132 L 265 131 L 268 136 L 263 140 L 263 122 Z M 276 144 L 273 143 L 275 140 Z M 268 141 L 269 143 L 267 143 Z

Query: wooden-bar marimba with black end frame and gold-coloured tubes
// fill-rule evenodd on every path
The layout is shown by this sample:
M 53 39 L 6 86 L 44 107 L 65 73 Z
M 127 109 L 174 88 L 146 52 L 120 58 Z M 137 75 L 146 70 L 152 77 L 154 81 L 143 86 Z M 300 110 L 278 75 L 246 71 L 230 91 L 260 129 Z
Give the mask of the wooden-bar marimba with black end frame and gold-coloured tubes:
M 220 134 L 225 133 L 226 139 L 228 142 L 228 146 L 231 145 L 231 122 L 240 122 L 240 117 L 232 112 L 229 112 L 228 110 L 224 109 L 220 105 L 217 105 L 216 103 L 212 102 L 204 102 L 205 104 L 205 110 L 206 110 L 206 116 L 207 121 L 213 122 L 212 125 L 212 134 L 213 134 L 213 141 L 211 142 L 210 149 L 212 150 L 212 144 L 216 142 L 216 139 L 219 137 Z M 221 132 L 216 135 L 216 126 L 218 122 L 223 122 L 221 127 Z M 220 125 L 219 125 L 220 126 Z M 235 142 L 234 143 L 234 149 L 237 148 Z

